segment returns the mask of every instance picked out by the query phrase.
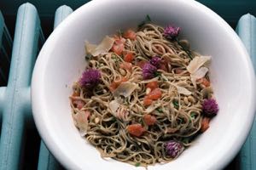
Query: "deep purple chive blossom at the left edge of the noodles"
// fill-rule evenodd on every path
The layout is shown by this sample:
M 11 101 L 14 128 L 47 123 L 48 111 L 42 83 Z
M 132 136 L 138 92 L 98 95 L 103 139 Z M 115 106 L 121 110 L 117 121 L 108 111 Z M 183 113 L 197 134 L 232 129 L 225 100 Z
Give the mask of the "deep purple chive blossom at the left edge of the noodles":
M 101 81 L 101 73 L 96 69 L 87 69 L 83 72 L 80 85 L 85 88 L 94 88 Z

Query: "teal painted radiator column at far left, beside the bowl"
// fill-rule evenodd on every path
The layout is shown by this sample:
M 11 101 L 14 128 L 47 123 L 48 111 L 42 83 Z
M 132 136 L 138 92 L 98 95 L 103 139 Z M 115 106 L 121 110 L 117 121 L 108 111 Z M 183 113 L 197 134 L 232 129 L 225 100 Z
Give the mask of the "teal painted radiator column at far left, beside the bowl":
M 25 120 L 32 118 L 30 83 L 38 52 L 40 21 L 30 3 L 20 6 L 15 27 L 15 41 L 6 88 L 0 89 L 2 129 L 0 169 L 19 169 Z M 26 115 L 25 113 L 30 113 Z

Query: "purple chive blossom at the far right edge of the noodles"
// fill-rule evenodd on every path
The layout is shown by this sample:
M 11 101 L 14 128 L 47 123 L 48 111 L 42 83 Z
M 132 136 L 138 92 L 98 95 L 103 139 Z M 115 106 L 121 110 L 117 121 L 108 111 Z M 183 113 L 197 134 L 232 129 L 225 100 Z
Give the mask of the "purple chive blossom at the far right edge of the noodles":
M 216 116 L 218 104 L 215 99 L 205 99 L 202 104 L 202 110 L 206 116 Z

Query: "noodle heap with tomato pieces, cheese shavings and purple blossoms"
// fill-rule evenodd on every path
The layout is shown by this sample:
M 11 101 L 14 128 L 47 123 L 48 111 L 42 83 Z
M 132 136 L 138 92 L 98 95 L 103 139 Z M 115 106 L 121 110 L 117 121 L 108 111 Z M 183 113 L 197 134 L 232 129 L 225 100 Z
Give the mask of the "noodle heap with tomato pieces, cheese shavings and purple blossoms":
M 178 32 L 145 24 L 98 46 L 86 42 L 88 65 L 73 85 L 72 116 L 102 157 L 143 167 L 172 161 L 207 130 L 218 111 L 211 58 L 177 40 Z

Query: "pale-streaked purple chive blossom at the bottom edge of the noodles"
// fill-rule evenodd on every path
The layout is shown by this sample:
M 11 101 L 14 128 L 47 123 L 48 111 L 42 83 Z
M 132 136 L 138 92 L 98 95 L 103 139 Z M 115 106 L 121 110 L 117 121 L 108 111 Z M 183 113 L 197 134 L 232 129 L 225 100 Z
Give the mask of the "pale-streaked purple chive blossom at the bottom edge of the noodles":
M 175 140 L 170 140 L 165 144 L 165 146 L 166 146 L 166 154 L 168 156 L 171 156 L 172 158 L 176 158 L 184 150 L 183 144 Z

